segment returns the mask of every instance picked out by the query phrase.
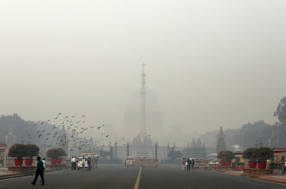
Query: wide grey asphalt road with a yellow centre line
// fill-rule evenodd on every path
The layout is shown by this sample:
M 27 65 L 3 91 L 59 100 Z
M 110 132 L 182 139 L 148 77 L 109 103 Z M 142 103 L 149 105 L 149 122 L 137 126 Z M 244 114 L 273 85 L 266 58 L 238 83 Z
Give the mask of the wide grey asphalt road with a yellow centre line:
M 66 169 L 45 174 L 45 185 L 34 176 L 0 180 L 0 188 L 286 188 L 286 185 L 209 170 L 181 171 L 180 165 L 158 168 L 124 168 L 98 164 L 91 171 Z

